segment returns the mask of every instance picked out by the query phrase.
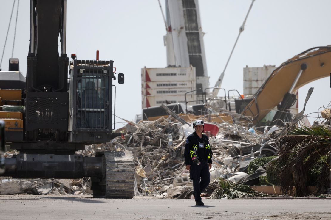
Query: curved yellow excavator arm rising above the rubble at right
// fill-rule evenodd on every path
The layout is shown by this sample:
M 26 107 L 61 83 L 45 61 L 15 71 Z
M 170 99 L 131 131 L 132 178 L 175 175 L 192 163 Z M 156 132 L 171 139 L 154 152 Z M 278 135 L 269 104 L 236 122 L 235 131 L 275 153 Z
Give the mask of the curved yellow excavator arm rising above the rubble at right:
M 310 48 L 275 69 L 242 114 L 253 117 L 253 124 L 258 124 L 287 92 L 295 93 L 301 86 L 327 77 L 330 72 L 331 46 Z

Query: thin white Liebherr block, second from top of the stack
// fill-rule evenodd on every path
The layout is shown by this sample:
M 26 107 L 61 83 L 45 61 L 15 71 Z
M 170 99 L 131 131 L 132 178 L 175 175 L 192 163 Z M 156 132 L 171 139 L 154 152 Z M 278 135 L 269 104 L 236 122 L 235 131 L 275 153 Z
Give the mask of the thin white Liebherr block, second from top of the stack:
M 141 82 L 142 89 L 162 89 L 162 88 L 192 88 L 195 89 L 195 81 L 159 81 Z

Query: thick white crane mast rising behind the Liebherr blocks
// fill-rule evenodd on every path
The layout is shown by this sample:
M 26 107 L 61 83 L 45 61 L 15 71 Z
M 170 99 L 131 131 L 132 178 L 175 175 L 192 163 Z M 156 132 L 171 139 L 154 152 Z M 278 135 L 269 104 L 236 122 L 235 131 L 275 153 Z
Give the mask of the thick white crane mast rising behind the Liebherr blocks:
M 209 86 L 198 0 L 166 0 L 167 66 L 196 68 L 196 89 Z M 199 93 L 198 93 L 199 94 Z

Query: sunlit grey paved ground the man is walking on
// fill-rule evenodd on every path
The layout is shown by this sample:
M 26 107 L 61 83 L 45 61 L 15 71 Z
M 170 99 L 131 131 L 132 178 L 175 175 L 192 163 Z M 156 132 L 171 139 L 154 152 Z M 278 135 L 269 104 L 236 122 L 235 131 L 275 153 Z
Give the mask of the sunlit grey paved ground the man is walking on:
M 194 200 L 0 196 L 0 219 L 331 219 L 331 200 Z

